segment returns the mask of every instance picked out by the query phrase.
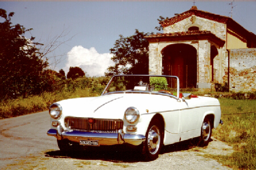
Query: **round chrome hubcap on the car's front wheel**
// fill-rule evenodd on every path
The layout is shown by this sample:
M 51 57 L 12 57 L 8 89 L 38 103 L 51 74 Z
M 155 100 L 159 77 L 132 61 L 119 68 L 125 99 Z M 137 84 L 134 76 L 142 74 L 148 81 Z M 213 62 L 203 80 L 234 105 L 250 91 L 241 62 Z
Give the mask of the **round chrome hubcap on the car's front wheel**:
M 147 146 L 152 155 L 158 152 L 160 146 L 160 131 L 157 126 L 152 126 L 150 131 L 148 131 Z

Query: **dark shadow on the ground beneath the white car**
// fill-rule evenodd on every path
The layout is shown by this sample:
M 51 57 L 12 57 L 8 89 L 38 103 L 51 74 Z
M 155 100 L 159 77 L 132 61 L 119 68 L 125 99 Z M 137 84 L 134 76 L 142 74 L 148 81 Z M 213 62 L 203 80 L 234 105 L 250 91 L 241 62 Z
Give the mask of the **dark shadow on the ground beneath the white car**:
M 179 152 L 198 147 L 198 140 L 189 139 L 172 145 L 162 147 L 160 154 L 170 152 Z M 128 146 L 101 146 L 80 149 L 76 151 L 64 152 L 60 150 L 48 151 L 45 156 L 52 158 L 73 158 L 81 160 L 104 160 L 109 162 L 135 163 L 144 162 L 143 156 L 140 154 L 139 147 Z

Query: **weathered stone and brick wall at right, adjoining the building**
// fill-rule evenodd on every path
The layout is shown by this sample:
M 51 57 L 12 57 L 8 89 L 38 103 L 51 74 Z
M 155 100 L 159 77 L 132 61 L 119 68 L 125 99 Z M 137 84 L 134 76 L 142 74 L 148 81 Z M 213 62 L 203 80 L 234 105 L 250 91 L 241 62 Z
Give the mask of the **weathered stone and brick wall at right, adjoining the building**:
M 256 48 L 231 49 L 229 57 L 229 90 L 255 92 Z

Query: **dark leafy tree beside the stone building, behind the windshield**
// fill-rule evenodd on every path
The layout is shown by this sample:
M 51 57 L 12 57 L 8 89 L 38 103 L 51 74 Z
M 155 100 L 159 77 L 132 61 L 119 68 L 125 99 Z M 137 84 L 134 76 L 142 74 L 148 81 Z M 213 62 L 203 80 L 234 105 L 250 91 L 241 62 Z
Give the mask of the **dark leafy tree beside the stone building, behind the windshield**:
M 106 76 L 116 74 L 148 74 L 148 41 L 144 36 L 152 33 L 139 32 L 129 37 L 119 35 L 115 41 L 114 48 L 110 53 L 114 54 L 112 60 L 114 66 L 108 67 Z

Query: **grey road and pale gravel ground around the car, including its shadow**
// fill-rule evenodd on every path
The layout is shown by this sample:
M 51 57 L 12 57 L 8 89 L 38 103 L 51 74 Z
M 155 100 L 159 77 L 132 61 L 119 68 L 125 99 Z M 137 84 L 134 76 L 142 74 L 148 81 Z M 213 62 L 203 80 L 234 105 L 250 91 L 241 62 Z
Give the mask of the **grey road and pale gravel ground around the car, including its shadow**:
M 0 120 L 0 169 L 230 169 L 203 156 L 232 153 L 232 147 L 216 139 L 207 148 L 189 142 L 166 146 L 158 159 L 143 162 L 133 152 L 101 148 L 75 154 L 60 152 L 56 138 L 46 134 L 48 129 L 48 111 Z

